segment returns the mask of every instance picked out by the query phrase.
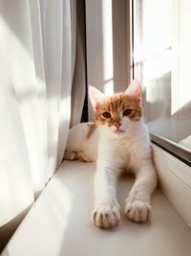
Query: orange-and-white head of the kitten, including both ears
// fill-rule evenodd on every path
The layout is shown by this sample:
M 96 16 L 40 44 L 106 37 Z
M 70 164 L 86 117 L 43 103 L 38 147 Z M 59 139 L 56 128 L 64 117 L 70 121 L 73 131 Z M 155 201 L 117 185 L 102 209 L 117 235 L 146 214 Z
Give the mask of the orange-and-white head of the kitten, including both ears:
M 125 92 L 106 96 L 95 87 L 89 87 L 96 124 L 113 137 L 126 136 L 142 120 L 142 92 L 139 81 L 132 81 Z

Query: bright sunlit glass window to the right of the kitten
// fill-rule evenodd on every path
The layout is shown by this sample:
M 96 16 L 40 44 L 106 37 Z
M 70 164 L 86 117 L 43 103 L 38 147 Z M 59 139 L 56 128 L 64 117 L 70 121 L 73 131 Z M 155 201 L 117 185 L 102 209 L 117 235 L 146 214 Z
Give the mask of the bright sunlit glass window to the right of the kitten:
M 191 2 L 134 0 L 134 77 L 154 142 L 191 162 Z M 178 152 L 179 151 L 179 152 Z M 181 153 L 180 153 L 181 151 Z

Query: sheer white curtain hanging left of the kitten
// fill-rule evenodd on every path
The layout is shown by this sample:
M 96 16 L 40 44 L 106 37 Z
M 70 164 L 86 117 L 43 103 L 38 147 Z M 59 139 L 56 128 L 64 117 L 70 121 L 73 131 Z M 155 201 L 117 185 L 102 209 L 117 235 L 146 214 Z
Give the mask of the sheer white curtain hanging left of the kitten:
M 61 163 L 74 77 L 73 123 L 80 121 L 85 69 L 75 65 L 77 37 L 76 44 L 76 0 L 0 0 L 0 236 Z

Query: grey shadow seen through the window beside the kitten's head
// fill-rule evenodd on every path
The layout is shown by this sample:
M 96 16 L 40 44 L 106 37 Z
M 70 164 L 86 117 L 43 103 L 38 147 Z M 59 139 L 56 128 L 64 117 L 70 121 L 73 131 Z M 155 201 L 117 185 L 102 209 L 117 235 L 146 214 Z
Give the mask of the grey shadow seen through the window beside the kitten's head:
M 171 114 L 171 72 L 147 84 L 143 95 L 145 120 L 150 131 L 174 142 L 191 134 L 191 101 Z

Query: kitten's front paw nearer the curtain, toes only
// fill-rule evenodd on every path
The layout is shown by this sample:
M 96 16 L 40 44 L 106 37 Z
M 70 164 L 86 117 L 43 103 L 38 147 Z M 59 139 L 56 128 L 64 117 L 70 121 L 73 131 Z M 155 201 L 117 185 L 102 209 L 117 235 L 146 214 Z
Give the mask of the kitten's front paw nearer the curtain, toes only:
M 118 204 L 100 204 L 93 212 L 92 221 L 100 228 L 116 226 L 120 221 Z

